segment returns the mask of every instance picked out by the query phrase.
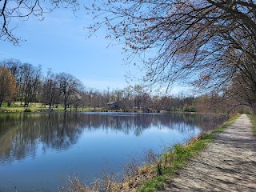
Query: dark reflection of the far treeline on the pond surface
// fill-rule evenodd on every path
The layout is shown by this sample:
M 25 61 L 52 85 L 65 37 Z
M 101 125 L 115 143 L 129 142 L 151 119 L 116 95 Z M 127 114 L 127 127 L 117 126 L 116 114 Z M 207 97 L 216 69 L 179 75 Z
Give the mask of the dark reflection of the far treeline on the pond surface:
M 210 130 L 223 118 L 198 114 L 0 114 L 0 163 L 34 157 L 38 145 L 46 150 L 67 150 L 82 132 L 110 130 L 140 136 L 151 127 L 187 132 Z M 189 129 L 189 130 L 188 130 Z

